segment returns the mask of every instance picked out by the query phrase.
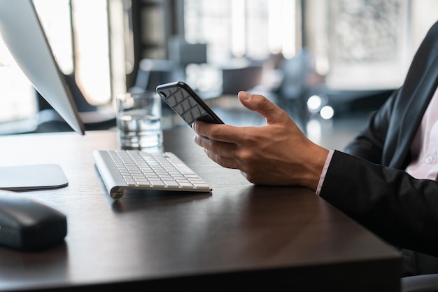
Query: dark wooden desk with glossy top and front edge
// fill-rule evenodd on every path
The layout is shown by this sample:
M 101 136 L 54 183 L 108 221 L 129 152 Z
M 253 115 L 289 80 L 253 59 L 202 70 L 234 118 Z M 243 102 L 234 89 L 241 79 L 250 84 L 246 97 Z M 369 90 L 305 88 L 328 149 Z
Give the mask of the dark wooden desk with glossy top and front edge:
M 0 137 L 2 165 L 52 162 L 69 186 L 24 193 L 64 212 L 65 244 L 25 253 L 0 247 L 0 291 L 251 287 L 399 291 L 395 250 L 305 188 L 253 186 L 211 162 L 190 129 L 165 133 L 212 193 L 126 193 L 115 201 L 94 149 L 115 132 Z M 296 290 L 295 290 L 296 289 Z

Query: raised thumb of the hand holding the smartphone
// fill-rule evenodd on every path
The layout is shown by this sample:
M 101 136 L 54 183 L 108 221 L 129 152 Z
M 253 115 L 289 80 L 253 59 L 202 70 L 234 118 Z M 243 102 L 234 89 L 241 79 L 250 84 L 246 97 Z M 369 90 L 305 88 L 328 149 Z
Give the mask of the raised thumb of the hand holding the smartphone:
M 283 109 L 280 109 L 263 95 L 252 95 L 249 92 L 241 91 L 237 96 L 243 106 L 264 116 L 268 124 L 284 120 L 284 115 L 288 116 Z

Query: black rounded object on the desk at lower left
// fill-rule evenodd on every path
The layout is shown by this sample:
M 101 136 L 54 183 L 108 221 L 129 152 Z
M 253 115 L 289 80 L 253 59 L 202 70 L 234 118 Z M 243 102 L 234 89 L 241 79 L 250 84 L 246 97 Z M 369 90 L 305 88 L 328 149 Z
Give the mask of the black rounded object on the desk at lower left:
M 64 241 L 66 216 L 42 202 L 0 190 L 0 245 L 24 251 L 47 249 Z

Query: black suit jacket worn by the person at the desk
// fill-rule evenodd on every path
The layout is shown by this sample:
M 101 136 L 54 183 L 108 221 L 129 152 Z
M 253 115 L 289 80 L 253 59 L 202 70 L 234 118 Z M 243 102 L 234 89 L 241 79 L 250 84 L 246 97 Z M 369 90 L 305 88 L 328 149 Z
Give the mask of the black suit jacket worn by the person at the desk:
M 320 196 L 390 244 L 438 256 L 438 182 L 404 169 L 438 85 L 438 22 L 418 48 L 401 88 L 367 127 L 335 151 Z M 438 110 L 438 109 L 437 109 Z

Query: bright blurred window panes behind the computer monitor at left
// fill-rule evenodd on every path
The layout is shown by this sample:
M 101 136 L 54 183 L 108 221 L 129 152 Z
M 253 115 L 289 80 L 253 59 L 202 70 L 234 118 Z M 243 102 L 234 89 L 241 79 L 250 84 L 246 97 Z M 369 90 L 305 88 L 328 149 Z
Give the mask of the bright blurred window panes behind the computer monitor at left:
M 64 74 L 74 72 L 87 102 L 108 104 L 113 92 L 126 90 L 125 43 L 120 40 L 125 29 L 122 1 L 34 0 L 34 4 L 59 67 Z M 114 53 L 117 58 L 111 56 Z M 35 97 L 29 81 L 0 42 L 0 123 L 34 116 Z

